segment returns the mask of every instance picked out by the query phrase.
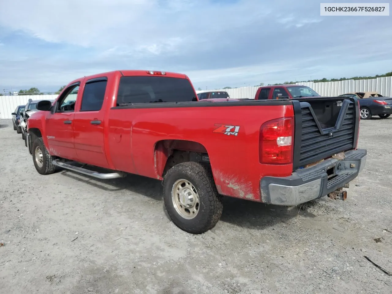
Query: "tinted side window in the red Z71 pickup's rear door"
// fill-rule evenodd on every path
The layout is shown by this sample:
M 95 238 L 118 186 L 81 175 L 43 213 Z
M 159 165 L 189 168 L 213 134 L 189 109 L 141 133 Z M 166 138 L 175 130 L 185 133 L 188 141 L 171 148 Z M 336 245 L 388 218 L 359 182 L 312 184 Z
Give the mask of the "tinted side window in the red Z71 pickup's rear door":
M 102 108 L 106 84 L 106 80 L 86 83 L 80 111 L 98 111 Z

